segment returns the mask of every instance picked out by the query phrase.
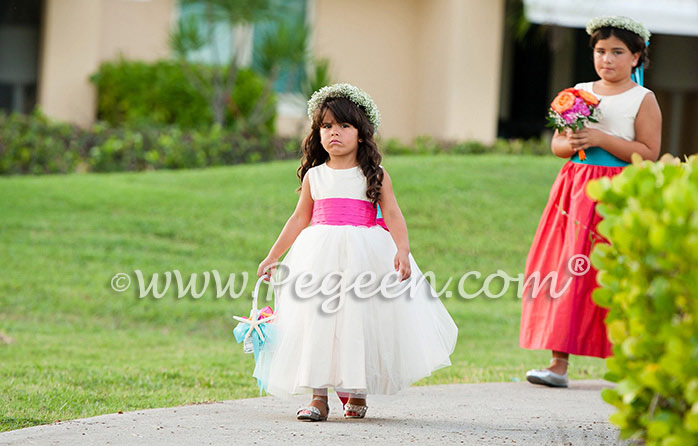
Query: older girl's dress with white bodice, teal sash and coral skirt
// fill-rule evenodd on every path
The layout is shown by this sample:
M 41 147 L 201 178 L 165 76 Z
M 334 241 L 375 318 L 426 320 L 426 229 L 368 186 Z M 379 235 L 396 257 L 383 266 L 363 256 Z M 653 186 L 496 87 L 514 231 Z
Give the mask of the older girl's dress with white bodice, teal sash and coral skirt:
M 588 82 L 575 88 L 594 93 L 592 85 Z M 601 118 L 589 127 L 634 140 L 635 117 L 648 92 L 638 85 L 612 96 L 594 93 L 601 100 Z M 520 345 L 605 358 L 612 355 L 604 324 L 607 310 L 592 300 L 598 285 L 596 270 L 587 259 L 595 243 L 608 242 L 596 232 L 601 216 L 586 195 L 586 186 L 590 180 L 617 175 L 628 163 L 601 147 L 585 152 L 585 161 L 575 154 L 562 166 L 528 253 Z M 532 281 L 536 272 L 538 289 Z M 556 281 L 543 281 L 551 273 Z

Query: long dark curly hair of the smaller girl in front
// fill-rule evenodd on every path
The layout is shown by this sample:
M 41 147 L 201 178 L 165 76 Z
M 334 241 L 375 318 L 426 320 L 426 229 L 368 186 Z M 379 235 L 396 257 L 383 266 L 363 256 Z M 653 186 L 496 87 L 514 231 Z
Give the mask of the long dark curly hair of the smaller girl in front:
M 356 159 L 366 177 L 366 198 L 375 206 L 380 200 L 380 190 L 383 185 L 383 169 L 380 167 L 383 157 L 373 140 L 374 128 L 366 112 L 347 98 L 327 98 L 318 107 L 313 116 L 310 133 L 303 140 L 303 158 L 296 172 L 298 179 L 302 184 L 305 174 L 311 167 L 319 166 L 330 158 L 329 153 L 320 143 L 320 125 L 328 110 L 332 112 L 337 122 L 351 124 L 359 131 L 359 149 Z

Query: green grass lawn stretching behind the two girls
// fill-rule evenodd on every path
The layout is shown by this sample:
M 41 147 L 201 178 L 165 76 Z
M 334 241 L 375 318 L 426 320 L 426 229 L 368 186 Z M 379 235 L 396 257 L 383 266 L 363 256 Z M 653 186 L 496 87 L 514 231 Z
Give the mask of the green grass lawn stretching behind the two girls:
M 412 252 L 448 277 L 523 271 L 561 161 L 389 157 Z M 253 276 L 297 195 L 297 162 L 196 171 L 0 178 L 0 431 L 117 411 L 258 395 L 234 343 L 239 299 L 139 299 L 134 270 Z M 239 286 L 239 284 L 238 284 Z M 520 302 L 445 299 L 460 328 L 453 366 L 420 384 L 510 381 L 547 364 L 518 347 Z M 572 378 L 600 378 L 573 358 Z

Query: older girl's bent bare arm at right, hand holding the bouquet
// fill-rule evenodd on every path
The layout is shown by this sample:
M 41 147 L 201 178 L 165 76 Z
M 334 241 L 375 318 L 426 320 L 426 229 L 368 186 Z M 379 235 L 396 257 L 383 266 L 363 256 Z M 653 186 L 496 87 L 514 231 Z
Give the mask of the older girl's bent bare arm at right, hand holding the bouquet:
M 574 150 L 602 147 L 623 161 L 630 162 L 633 153 L 642 159 L 656 161 L 662 142 L 662 112 L 653 93 L 645 95 L 635 117 L 635 140 L 609 135 L 597 129 L 582 129 L 569 136 Z

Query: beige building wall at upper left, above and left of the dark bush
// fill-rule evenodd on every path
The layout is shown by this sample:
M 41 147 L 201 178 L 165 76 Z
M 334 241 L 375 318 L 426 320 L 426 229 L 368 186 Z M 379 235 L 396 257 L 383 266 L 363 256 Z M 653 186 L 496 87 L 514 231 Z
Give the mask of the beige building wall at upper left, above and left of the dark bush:
M 53 118 L 91 124 L 96 91 L 90 75 L 119 53 L 167 57 L 174 10 L 175 0 L 44 0 L 38 105 Z

